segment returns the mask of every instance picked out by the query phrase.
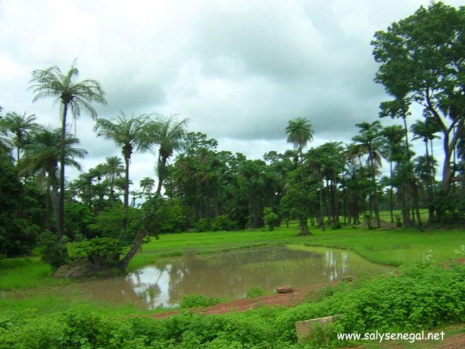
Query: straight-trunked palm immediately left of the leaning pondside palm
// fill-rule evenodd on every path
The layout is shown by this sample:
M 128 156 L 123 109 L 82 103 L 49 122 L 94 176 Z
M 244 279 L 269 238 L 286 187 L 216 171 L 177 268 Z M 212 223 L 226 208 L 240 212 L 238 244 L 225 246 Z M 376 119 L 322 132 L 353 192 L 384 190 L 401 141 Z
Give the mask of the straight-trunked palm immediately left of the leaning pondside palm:
M 144 151 L 144 127 L 148 122 L 148 117 L 143 114 L 139 117 L 127 118 L 124 112 L 113 120 L 98 119 L 95 124 L 95 131 L 97 136 L 114 141 L 118 146 L 122 147 L 122 154 L 124 156 L 124 212 L 127 213 L 129 206 L 129 161 L 134 152 Z M 126 228 L 127 217 L 124 215 L 123 229 Z

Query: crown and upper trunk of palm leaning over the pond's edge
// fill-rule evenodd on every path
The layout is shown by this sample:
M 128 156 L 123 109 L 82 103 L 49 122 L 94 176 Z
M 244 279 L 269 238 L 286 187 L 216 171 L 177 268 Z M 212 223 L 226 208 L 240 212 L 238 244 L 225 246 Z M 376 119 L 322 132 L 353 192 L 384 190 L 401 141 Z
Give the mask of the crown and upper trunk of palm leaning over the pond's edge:
M 146 128 L 146 147 L 152 144 L 159 144 L 159 159 L 157 161 L 157 171 L 159 174 L 159 183 L 156 188 L 156 196 L 161 193 L 161 186 L 165 178 L 166 162 L 173 152 L 183 147 L 186 137 L 186 125 L 188 119 L 182 119 L 180 122 L 174 119 L 175 115 L 167 119 L 158 119 L 149 124 Z

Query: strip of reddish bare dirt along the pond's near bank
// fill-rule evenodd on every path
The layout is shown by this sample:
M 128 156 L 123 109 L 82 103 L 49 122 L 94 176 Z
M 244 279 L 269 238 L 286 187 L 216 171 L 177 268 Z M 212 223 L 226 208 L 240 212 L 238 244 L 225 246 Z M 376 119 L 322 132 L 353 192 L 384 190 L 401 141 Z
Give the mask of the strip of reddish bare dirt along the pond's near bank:
M 296 304 L 305 301 L 308 297 L 315 296 L 316 291 L 322 289 L 324 286 L 334 284 L 336 283 L 302 287 L 301 289 L 294 289 L 294 291 L 289 294 L 269 294 L 267 296 L 255 298 L 236 299 L 235 301 L 219 303 L 206 308 L 191 308 L 189 311 L 210 315 L 230 313 L 231 311 L 247 311 L 251 308 L 257 308 L 258 306 L 295 306 Z M 157 313 L 154 317 L 167 318 L 180 312 L 180 310 L 167 311 L 166 313 Z

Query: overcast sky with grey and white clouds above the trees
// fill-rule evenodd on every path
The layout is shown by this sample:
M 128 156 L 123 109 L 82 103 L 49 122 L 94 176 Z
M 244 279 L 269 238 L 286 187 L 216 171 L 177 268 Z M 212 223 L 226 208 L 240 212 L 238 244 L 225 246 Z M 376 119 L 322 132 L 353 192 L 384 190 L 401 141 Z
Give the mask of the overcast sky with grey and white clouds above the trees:
M 429 0 L 0 0 L 0 105 L 58 127 L 58 104 L 31 102 L 31 72 L 65 72 L 76 58 L 80 79 L 105 90 L 107 106 L 95 106 L 102 118 L 179 114 L 189 131 L 250 159 L 289 149 L 294 117 L 314 125 L 314 145 L 348 142 L 389 99 L 373 82 L 375 31 L 422 4 Z M 77 119 L 85 171 L 121 154 L 93 126 L 86 114 Z M 134 156 L 134 183 L 154 176 L 154 163 L 154 154 Z

